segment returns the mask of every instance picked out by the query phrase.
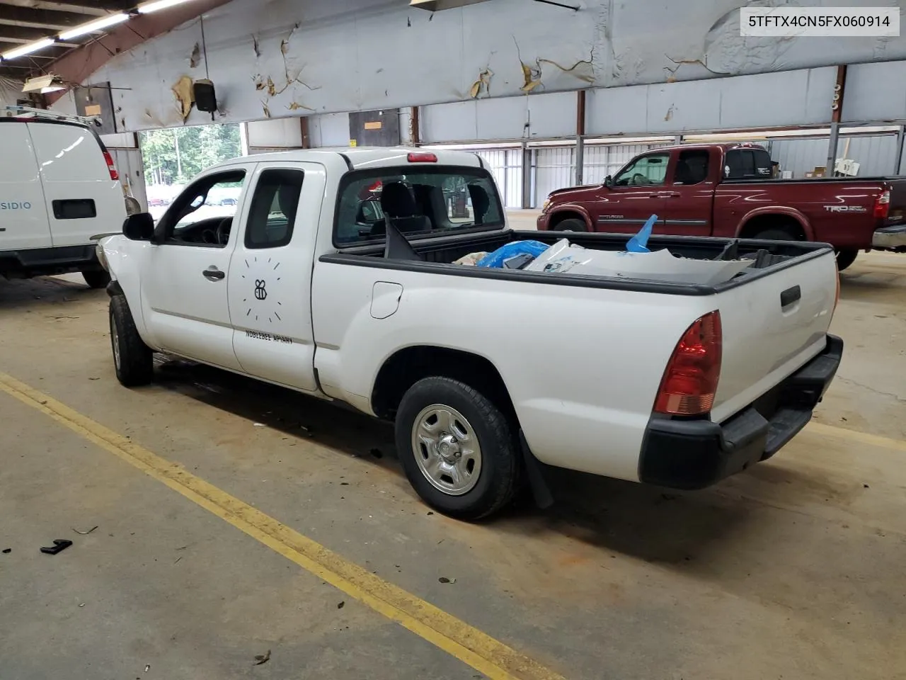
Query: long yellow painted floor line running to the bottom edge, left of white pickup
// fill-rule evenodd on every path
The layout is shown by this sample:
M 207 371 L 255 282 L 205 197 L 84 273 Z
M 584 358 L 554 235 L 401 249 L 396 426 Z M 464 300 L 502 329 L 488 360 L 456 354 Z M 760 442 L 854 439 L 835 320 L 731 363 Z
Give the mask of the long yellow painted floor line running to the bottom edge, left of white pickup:
M 515 649 L 469 626 L 429 602 L 375 576 L 226 491 L 185 470 L 178 463 L 149 452 L 120 434 L 95 423 L 64 403 L 0 373 L 0 390 L 45 413 L 111 452 L 188 500 L 226 520 L 236 529 L 291 559 L 349 597 L 361 601 L 417 636 L 494 680 L 564 680 Z

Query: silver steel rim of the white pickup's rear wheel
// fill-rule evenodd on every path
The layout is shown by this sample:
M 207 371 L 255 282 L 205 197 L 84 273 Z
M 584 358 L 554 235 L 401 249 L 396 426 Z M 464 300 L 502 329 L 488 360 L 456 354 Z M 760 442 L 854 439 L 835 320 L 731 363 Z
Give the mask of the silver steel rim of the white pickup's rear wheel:
M 481 445 L 475 428 L 446 404 L 432 403 L 416 416 L 412 455 L 431 486 L 448 496 L 472 491 L 481 475 Z

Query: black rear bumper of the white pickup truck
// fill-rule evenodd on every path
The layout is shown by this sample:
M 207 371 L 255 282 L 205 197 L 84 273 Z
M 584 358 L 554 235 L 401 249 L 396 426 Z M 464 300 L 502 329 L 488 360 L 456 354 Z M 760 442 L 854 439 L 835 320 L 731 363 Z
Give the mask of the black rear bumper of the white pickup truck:
M 811 420 L 842 356 L 843 340 L 828 335 L 824 352 L 724 423 L 652 419 L 642 443 L 640 480 L 703 489 L 770 458 Z

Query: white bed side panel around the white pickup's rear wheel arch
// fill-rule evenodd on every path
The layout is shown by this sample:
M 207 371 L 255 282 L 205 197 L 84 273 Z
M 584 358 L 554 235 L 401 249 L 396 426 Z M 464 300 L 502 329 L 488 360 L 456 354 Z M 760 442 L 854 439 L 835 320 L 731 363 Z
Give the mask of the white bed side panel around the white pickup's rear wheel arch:
M 371 316 L 377 282 L 402 287 L 398 311 L 383 319 Z M 325 393 L 372 413 L 374 381 L 398 350 L 432 345 L 483 356 L 503 377 L 541 461 L 638 481 L 664 367 L 711 303 L 317 262 L 315 365 Z

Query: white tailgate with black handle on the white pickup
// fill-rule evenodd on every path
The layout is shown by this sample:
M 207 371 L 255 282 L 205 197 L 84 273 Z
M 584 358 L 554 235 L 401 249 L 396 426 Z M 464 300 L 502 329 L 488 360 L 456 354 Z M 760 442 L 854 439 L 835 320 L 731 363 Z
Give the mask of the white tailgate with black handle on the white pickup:
M 726 420 L 824 349 L 834 315 L 834 252 L 771 267 L 718 293 L 723 353 L 711 419 Z

